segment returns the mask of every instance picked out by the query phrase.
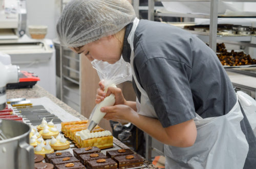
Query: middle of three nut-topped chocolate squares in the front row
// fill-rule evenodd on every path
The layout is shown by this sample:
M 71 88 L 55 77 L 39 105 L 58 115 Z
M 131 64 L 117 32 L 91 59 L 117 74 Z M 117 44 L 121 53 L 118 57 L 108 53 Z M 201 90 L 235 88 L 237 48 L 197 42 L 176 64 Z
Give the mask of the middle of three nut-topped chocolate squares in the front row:
M 112 160 L 111 158 L 106 158 L 106 159 L 98 159 L 98 160 L 92 160 L 88 161 L 87 163 L 87 168 L 88 169 L 93 169 L 93 168 L 117 168 L 117 163 Z

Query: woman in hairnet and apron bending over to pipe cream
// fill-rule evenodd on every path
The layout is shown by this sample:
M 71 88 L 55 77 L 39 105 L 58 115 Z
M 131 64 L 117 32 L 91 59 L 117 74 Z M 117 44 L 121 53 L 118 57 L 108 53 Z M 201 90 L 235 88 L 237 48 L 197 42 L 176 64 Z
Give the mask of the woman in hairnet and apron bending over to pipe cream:
M 196 36 L 138 20 L 126 0 L 74 0 L 63 10 L 62 45 L 110 64 L 121 55 L 133 71 L 137 103 L 118 88 L 104 118 L 128 121 L 165 144 L 166 168 L 253 168 L 255 137 L 216 54 Z M 208 118 L 210 117 L 210 118 Z M 241 124 L 241 125 L 240 125 Z M 249 142 L 249 145 L 248 145 Z

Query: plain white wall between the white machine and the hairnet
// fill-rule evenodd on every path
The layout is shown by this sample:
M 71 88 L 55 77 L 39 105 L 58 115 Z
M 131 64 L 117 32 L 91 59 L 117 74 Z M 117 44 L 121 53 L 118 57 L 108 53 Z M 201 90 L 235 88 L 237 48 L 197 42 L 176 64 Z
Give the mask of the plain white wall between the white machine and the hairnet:
M 55 25 L 60 15 L 60 0 L 26 0 L 27 26 L 46 25 L 48 32 L 46 38 L 57 37 Z M 28 29 L 27 29 L 27 34 Z

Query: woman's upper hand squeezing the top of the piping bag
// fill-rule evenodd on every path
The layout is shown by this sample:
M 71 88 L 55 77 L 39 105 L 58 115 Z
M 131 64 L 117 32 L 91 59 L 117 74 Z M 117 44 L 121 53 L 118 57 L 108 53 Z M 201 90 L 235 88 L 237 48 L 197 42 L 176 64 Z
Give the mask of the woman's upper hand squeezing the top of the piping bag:
M 95 102 L 97 104 L 100 103 L 101 101 L 103 101 L 106 96 L 109 96 L 111 93 L 113 93 L 115 95 L 115 100 L 116 100 L 114 105 L 125 105 L 126 100 L 124 99 L 122 90 L 120 88 L 109 87 L 108 91 L 106 93 L 104 93 L 103 82 L 100 81 L 99 86 L 100 86 L 100 88 L 97 89 L 97 94 L 96 94 L 96 99 L 95 99 Z

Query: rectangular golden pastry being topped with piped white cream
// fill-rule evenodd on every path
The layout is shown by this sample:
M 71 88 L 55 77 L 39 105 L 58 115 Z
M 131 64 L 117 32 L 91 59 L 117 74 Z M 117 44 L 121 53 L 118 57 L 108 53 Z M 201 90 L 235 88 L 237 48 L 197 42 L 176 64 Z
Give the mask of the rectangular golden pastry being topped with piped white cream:
M 82 130 L 76 132 L 77 144 L 79 148 L 96 146 L 99 149 L 113 147 L 113 136 L 110 131 L 92 132 Z

